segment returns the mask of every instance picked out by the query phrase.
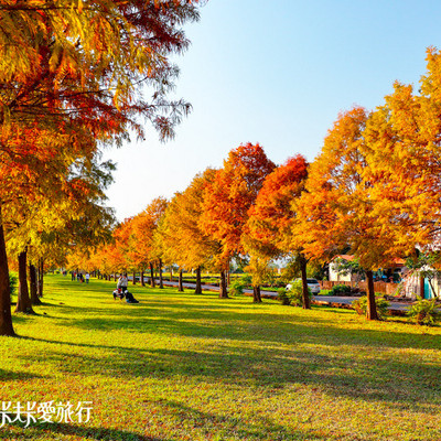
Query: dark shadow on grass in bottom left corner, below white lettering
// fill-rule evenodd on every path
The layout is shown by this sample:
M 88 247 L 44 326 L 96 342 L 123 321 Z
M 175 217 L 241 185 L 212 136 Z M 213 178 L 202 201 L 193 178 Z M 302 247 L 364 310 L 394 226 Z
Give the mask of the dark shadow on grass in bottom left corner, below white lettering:
M 14 418 L 11 415 L 11 418 Z M 0 439 L 4 440 L 31 440 L 31 439 L 44 439 L 44 440 L 57 440 L 60 434 L 82 437 L 85 440 L 103 440 L 103 441 L 169 441 L 164 438 L 152 438 L 144 437 L 133 431 L 107 429 L 99 427 L 87 427 L 78 426 L 75 423 L 34 423 L 28 428 L 24 428 L 23 423 L 12 423 L 9 427 L 17 429 L 23 429 L 22 432 L 14 430 L 12 432 L 8 426 L 0 428 Z M 13 438 L 10 438 L 13 437 Z M 77 439 L 77 438 L 76 438 Z

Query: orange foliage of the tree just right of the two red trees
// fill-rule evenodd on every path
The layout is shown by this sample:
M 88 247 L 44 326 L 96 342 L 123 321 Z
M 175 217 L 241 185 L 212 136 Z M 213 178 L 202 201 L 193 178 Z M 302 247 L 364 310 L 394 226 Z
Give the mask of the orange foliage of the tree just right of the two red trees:
M 310 257 L 326 260 L 351 245 L 361 265 L 372 269 L 381 263 L 377 259 L 383 255 L 373 240 L 380 245 L 383 239 L 375 230 L 369 187 L 363 181 L 367 118 L 363 108 L 354 108 L 340 115 L 330 130 L 321 154 L 310 166 L 306 192 L 295 203 L 300 224 L 294 233 Z

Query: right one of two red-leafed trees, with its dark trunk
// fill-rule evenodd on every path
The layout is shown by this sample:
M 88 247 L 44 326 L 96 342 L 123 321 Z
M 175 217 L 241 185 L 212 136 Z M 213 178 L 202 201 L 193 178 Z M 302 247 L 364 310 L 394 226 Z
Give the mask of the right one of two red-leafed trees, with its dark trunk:
M 243 241 L 251 255 L 251 262 L 282 256 L 295 258 L 303 281 L 303 308 L 309 309 L 308 260 L 301 247 L 292 241 L 292 226 L 295 223 L 292 202 L 303 192 L 306 178 L 308 162 L 301 154 L 290 158 L 270 173 L 249 209 Z

